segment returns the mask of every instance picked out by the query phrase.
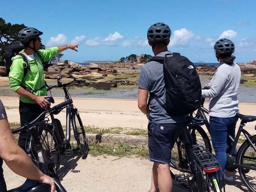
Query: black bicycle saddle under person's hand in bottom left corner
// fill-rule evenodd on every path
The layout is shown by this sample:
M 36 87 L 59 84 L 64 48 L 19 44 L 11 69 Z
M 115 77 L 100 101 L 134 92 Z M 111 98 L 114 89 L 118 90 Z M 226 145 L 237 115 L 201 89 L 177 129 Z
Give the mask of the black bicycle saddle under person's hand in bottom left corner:
M 38 183 L 27 179 L 21 186 L 8 190 L 7 192 L 50 192 L 51 188 L 47 184 Z

